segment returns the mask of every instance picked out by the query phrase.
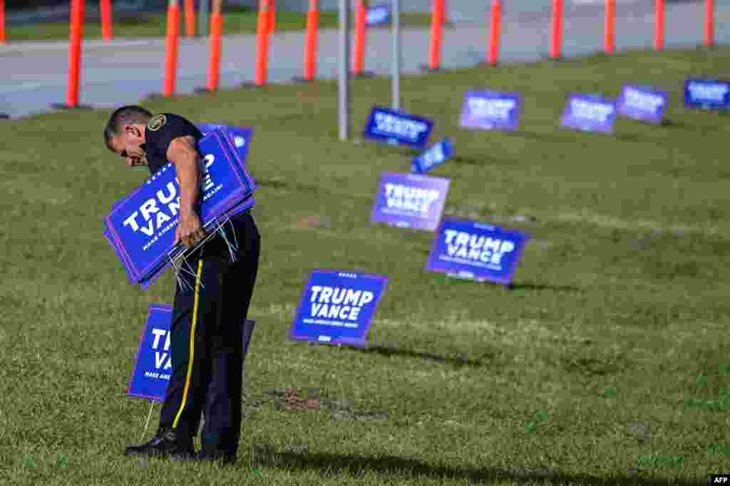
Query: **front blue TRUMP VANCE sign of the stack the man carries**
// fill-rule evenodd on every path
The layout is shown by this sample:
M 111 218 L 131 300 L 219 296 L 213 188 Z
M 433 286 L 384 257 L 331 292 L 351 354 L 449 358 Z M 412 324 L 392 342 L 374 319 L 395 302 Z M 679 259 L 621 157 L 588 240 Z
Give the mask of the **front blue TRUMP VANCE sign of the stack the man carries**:
M 208 224 L 246 200 L 255 184 L 247 177 L 240 161 L 234 158 L 230 140 L 222 133 L 215 131 L 201 138 L 199 150 L 204 154 L 199 215 L 203 224 Z M 163 265 L 169 251 L 174 249 L 179 192 L 174 166 L 168 163 L 115 205 L 104 219 L 135 282 L 142 281 Z M 178 249 L 182 250 L 182 247 Z

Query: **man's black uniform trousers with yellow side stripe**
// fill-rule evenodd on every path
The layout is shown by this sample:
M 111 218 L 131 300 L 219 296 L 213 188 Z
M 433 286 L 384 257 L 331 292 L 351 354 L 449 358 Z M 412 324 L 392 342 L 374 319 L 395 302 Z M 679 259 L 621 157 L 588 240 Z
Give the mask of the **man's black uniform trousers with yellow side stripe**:
M 231 262 L 222 238 L 206 243 L 188 264 L 195 275 L 181 275 L 170 329 L 172 374 L 160 413 L 160 426 L 180 436 L 196 436 L 201 412 L 201 452 L 236 455 L 241 429 L 243 375 L 242 325 L 253 294 L 260 236 L 253 217 L 236 225 L 237 261 Z

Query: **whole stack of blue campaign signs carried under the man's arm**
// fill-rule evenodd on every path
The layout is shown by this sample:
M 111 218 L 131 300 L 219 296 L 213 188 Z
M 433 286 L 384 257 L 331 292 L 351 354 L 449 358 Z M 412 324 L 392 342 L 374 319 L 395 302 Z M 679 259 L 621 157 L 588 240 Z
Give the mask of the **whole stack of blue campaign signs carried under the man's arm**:
M 198 142 L 201 167 L 199 216 L 208 235 L 224 232 L 224 224 L 255 203 L 255 182 L 245 166 L 250 130 L 202 125 Z M 180 184 L 172 162 L 141 187 L 115 203 L 104 218 L 104 236 L 117 254 L 129 282 L 147 289 L 187 249 L 174 243 L 179 222 Z

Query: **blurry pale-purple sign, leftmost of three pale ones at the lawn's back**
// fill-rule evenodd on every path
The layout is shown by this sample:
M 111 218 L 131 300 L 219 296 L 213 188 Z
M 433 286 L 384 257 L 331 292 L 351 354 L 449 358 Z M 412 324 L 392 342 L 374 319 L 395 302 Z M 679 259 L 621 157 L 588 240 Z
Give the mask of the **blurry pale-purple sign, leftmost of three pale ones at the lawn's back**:
M 492 91 L 467 91 L 459 125 L 480 130 L 517 130 L 520 95 Z

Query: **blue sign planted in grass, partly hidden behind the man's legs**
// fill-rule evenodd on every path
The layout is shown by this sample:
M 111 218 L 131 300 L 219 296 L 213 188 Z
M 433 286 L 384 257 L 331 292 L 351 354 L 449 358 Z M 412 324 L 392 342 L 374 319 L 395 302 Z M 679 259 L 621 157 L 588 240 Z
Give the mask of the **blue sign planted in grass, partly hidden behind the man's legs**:
M 170 324 L 172 306 L 150 305 L 147 323 L 137 349 L 127 395 L 152 401 L 163 401 L 172 373 Z

